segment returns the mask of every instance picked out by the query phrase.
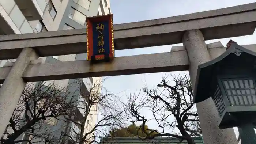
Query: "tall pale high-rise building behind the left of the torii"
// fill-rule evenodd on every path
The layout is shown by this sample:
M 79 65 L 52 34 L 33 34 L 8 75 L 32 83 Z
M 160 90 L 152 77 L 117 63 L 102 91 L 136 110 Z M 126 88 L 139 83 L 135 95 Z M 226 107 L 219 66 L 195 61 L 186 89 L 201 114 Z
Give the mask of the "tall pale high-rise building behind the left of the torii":
M 87 16 L 110 13 L 110 0 L 0 0 L 0 35 L 82 29 L 86 27 Z M 41 58 L 45 62 L 54 63 L 84 60 L 86 54 Z M 7 61 L 15 60 L 0 60 L 0 67 L 3 67 Z M 82 79 L 84 91 L 89 92 L 93 84 L 100 81 L 99 79 Z M 47 81 L 46 85 L 52 82 Z M 72 82 L 74 82 L 74 79 L 56 80 L 54 84 L 67 88 Z M 65 90 L 74 91 L 72 88 Z M 90 125 L 88 130 L 93 127 L 96 120 L 97 117 L 93 116 L 87 120 L 87 125 Z M 58 121 L 51 125 L 58 127 Z M 20 139 L 27 139 L 28 137 L 27 134 L 23 134 Z

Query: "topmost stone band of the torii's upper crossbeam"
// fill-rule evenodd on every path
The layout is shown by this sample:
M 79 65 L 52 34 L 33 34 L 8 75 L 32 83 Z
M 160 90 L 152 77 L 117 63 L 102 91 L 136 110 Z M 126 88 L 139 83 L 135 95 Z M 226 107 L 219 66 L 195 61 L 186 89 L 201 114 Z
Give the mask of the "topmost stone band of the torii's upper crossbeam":
M 141 21 L 141 22 L 115 24 L 114 30 L 135 29 L 138 27 L 154 26 L 154 25 L 167 24 L 167 23 L 176 23 L 176 22 L 188 21 L 188 20 L 205 19 L 205 18 L 210 18 L 210 17 L 217 17 L 217 16 L 230 15 L 230 14 L 236 14 L 236 13 L 244 13 L 247 11 L 255 11 L 255 10 L 256 10 L 256 3 L 249 3 L 249 4 L 234 6 L 234 7 L 221 8 L 221 9 L 217 9 L 217 10 L 210 10 L 210 11 L 197 12 L 197 13 L 186 14 L 186 15 L 172 16 L 172 17 L 168 17 L 168 18 L 145 20 L 145 21 Z M 52 32 L 48 32 L 48 33 L 5 35 L 4 37 L 0 37 L 0 41 L 10 40 L 10 39 L 14 40 L 14 39 L 56 37 L 56 36 L 79 35 L 79 34 L 86 34 L 86 29 L 76 29 L 76 30 L 68 30 L 68 31 L 52 31 Z

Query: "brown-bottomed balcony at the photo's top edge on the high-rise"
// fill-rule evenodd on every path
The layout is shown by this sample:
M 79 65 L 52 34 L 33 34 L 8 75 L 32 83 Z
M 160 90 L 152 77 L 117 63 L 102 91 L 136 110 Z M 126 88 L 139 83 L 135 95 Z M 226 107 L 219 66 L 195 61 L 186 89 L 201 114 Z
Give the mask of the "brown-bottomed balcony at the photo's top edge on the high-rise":
M 37 0 L 14 0 L 28 21 L 42 20 L 43 11 Z M 46 2 L 45 2 L 46 3 Z

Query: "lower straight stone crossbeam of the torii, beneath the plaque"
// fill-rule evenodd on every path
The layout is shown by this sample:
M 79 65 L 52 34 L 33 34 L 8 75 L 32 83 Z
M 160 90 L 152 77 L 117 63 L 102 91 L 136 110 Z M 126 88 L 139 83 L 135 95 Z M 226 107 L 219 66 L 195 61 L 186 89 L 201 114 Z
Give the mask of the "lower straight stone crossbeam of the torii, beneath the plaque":
M 82 77 L 184 71 L 188 69 L 188 64 L 187 52 L 185 50 L 116 57 L 112 62 L 93 65 L 87 60 L 57 62 L 54 64 L 46 62 L 45 64 L 30 64 L 23 74 L 23 79 L 27 82 L 34 82 Z M 0 83 L 4 81 L 10 68 L 0 68 Z

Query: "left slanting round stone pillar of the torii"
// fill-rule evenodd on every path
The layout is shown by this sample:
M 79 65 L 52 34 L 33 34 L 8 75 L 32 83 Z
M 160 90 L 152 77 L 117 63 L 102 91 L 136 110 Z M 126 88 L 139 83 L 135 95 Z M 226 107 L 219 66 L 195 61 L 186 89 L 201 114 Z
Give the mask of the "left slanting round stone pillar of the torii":
M 23 72 L 30 61 L 37 58 L 38 55 L 32 48 L 23 49 L 0 88 L 0 136 L 3 135 L 26 86 L 26 82 L 22 79 Z

